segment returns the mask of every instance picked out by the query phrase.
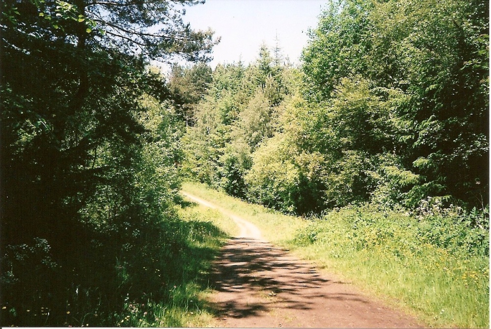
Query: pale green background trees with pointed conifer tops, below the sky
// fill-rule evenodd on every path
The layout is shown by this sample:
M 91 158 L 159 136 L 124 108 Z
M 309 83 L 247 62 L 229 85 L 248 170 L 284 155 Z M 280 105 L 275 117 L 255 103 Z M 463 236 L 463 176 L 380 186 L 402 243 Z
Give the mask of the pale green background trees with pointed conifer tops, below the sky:
M 186 69 L 183 75 L 193 70 Z M 195 107 L 194 126 L 184 136 L 182 172 L 245 198 L 251 154 L 283 128 L 283 101 L 297 88 L 292 72 L 273 61 L 266 45 L 248 67 L 241 62 L 218 65 L 206 95 Z

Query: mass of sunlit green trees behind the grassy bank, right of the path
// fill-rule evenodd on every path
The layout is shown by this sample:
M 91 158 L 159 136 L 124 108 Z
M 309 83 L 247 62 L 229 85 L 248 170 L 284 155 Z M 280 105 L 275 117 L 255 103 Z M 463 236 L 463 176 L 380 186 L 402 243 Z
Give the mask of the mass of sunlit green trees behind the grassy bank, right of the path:
M 226 190 L 288 212 L 375 201 L 414 208 L 428 196 L 484 209 L 488 9 L 483 1 L 332 1 L 300 71 L 278 60 L 278 44 L 274 56 L 262 45 L 247 68 L 214 71 L 214 91 L 188 132 L 191 176 L 223 187 L 231 167 L 220 158 L 240 149 L 247 161 L 231 177 L 242 192 Z M 216 113 L 216 130 L 200 130 L 200 108 Z

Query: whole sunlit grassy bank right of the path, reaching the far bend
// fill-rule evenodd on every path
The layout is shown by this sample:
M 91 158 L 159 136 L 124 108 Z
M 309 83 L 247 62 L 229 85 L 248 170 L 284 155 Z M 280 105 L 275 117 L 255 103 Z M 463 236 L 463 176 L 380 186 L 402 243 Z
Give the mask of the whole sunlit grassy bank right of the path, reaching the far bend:
M 489 328 L 489 230 L 476 228 L 470 215 L 433 209 L 417 217 L 365 206 L 309 221 L 202 184 L 185 183 L 183 190 L 235 212 L 271 242 L 428 326 Z

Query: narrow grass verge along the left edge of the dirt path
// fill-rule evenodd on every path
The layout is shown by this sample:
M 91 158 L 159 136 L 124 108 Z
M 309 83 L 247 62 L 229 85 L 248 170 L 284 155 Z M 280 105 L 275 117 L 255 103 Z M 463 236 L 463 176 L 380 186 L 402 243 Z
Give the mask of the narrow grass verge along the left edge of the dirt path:
M 215 310 L 207 300 L 212 290 L 207 276 L 211 262 L 234 226 L 218 210 L 192 202 L 180 202 L 178 214 L 186 236 L 181 250 L 182 275 L 168 286 L 167 298 L 160 303 L 127 301 L 116 326 L 124 327 L 211 327 Z

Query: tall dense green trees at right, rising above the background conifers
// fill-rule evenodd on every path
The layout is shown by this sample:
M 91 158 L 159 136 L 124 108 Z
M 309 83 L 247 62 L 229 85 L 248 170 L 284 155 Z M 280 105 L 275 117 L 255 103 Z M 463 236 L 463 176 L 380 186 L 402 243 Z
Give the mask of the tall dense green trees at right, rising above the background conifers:
M 324 126 L 313 127 L 329 138 L 312 142 L 327 144 L 335 163 L 339 152 L 396 155 L 401 170 L 418 177 L 403 200 L 396 197 L 407 206 L 430 195 L 482 208 L 488 35 L 488 2 L 332 2 L 303 51 L 303 111 L 327 107 Z

